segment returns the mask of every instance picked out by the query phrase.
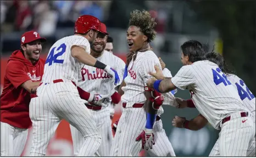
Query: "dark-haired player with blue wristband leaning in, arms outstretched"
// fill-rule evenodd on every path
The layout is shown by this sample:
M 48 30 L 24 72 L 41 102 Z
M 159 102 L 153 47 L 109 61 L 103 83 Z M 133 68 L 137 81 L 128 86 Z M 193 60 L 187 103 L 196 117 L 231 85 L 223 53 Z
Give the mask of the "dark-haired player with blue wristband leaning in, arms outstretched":
M 147 82 L 161 93 L 173 89 L 189 89 L 197 110 L 207 118 L 215 128 L 220 129 L 220 156 L 246 156 L 249 144 L 253 141 L 255 130 L 253 120 L 248 117 L 248 110 L 242 106 L 235 87 L 220 70 L 218 65 L 208 61 L 202 44 L 187 41 L 181 46 L 183 67 L 172 77 L 164 77 L 155 66 L 154 77 Z M 233 145 L 236 144 L 236 145 Z

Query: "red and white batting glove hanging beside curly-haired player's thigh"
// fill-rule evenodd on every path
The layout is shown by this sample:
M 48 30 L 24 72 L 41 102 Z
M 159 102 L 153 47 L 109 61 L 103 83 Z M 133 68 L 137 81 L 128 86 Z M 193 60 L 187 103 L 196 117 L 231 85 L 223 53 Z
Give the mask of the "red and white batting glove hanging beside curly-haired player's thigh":
M 148 148 L 152 149 L 152 146 L 155 144 L 153 129 L 145 128 L 145 130 L 143 130 L 136 138 L 136 142 L 139 142 L 140 140 L 142 149 L 144 149 L 145 146 L 146 150 L 148 150 Z

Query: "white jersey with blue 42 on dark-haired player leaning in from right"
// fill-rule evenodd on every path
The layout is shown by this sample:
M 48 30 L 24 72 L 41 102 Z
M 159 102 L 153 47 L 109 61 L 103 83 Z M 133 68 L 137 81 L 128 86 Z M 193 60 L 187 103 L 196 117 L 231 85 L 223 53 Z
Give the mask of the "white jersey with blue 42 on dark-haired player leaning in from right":
M 197 61 L 182 66 L 171 78 L 177 88 L 189 89 L 197 110 L 216 129 L 223 118 L 237 111 L 247 111 L 237 90 L 232 86 L 218 65 L 208 61 Z

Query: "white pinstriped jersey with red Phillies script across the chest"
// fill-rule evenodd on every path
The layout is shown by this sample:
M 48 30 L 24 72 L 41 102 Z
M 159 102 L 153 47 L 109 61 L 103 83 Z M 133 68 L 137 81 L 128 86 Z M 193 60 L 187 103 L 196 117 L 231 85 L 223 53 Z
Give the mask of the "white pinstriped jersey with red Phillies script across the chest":
M 118 85 L 120 85 L 124 76 L 124 61 L 108 52 L 107 50 L 104 50 L 102 56 L 98 57 L 97 60 L 110 65 L 118 72 L 118 75 L 120 76 L 120 82 Z M 81 71 L 81 75 L 82 77 L 79 78 L 78 86 L 86 92 L 105 95 L 109 94 L 110 91 L 115 88 L 114 78 L 109 76 L 104 70 L 84 65 Z

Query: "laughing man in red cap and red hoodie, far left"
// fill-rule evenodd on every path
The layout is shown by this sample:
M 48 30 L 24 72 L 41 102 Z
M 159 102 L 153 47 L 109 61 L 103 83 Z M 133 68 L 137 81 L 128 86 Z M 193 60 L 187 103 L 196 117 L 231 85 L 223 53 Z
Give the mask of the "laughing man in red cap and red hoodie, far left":
M 20 156 L 32 122 L 29 103 L 42 80 L 44 60 L 41 38 L 36 31 L 21 36 L 21 48 L 8 60 L 1 95 L 1 156 Z

